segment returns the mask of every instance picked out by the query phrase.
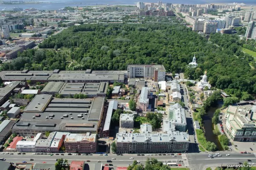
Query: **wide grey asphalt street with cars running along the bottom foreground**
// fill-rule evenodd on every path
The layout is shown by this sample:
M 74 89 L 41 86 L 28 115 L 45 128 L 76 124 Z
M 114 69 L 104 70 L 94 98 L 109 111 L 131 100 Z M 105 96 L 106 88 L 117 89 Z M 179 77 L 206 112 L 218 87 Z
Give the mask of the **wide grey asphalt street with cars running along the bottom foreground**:
M 112 160 L 114 167 L 117 166 L 128 166 L 128 164 L 132 164 L 134 160 L 140 161 L 140 163 L 145 164 L 147 158 L 156 158 L 158 161 L 162 161 L 163 163 L 167 163 L 167 161 L 177 162 L 177 160 L 182 160 L 183 162 L 177 162 L 177 164 L 181 164 L 183 167 L 190 167 L 191 170 L 202 170 L 204 167 L 210 166 L 220 166 L 221 164 L 238 164 L 239 162 L 247 161 L 247 159 L 251 160 L 251 163 L 256 163 L 256 157 L 254 153 L 251 154 L 241 154 L 241 153 L 232 153 L 232 152 L 220 152 L 222 157 L 214 157 L 209 158 L 208 153 L 187 153 L 182 154 L 182 156 L 172 157 L 172 156 L 137 156 L 136 154 L 124 154 L 123 156 L 117 156 L 115 154 L 108 154 L 108 156 L 99 156 L 99 154 L 93 154 L 93 156 L 68 156 L 67 153 L 64 153 L 64 156 L 61 155 L 32 155 L 32 153 L 26 153 L 26 155 L 1 155 L 0 157 L 6 158 L 6 161 L 10 161 L 13 163 L 27 161 L 31 163 L 41 163 L 43 161 L 47 163 L 55 163 L 57 158 L 64 158 L 69 161 L 69 163 L 73 160 L 81 160 L 87 161 L 90 160 L 91 163 L 97 163 L 97 161 L 101 161 L 102 164 L 107 164 L 107 160 L 111 160 L 111 158 L 116 158 L 116 160 Z M 230 154 L 230 156 L 226 156 L 226 154 Z M 130 159 L 133 157 L 134 159 Z M 29 159 L 33 158 L 34 161 L 29 161 Z

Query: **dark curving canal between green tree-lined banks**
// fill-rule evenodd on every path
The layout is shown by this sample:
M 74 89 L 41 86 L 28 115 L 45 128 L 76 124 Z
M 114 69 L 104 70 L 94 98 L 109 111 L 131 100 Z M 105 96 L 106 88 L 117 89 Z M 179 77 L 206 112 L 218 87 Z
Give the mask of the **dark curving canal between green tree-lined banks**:
M 212 124 L 212 117 L 216 109 L 221 108 L 223 101 L 218 101 L 218 107 L 211 107 L 207 112 L 207 115 L 203 117 L 205 138 L 207 141 L 213 142 L 216 144 L 218 150 L 223 150 L 221 144 L 218 140 L 218 136 L 214 135 L 214 124 Z

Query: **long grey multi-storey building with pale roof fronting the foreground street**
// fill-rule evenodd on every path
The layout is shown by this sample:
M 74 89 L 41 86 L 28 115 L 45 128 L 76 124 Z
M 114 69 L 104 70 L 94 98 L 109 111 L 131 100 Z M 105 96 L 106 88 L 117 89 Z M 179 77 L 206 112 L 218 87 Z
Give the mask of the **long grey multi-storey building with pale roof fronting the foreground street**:
M 189 135 L 171 133 L 117 133 L 117 153 L 172 153 L 189 148 Z

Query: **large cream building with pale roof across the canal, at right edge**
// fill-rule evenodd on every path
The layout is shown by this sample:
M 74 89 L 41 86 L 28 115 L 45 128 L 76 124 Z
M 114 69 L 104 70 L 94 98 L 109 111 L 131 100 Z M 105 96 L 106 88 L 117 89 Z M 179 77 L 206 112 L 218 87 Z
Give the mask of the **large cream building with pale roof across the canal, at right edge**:
M 255 105 L 229 106 L 225 114 L 226 133 L 233 141 L 256 141 Z

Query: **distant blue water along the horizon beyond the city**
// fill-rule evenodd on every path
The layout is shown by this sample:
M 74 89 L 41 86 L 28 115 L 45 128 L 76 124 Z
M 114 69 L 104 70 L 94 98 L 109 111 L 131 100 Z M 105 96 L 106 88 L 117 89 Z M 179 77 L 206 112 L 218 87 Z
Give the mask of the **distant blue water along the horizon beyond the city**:
M 8 1 L 8 0 L 6 0 Z M 0 4 L 0 10 L 6 8 L 10 10 L 14 7 L 25 9 L 35 8 L 39 10 L 58 10 L 65 6 L 97 6 L 97 5 L 135 5 L 138 1 L 147 3 L 157 3 L 157 0 L 38 0 L 37 4 Z M 247 6 L 256 6 L 256 0 L 162 0 L 162 3 L 173 4 L 206 4 L 206 3 L 245 3 Z

